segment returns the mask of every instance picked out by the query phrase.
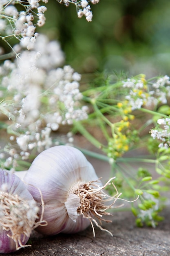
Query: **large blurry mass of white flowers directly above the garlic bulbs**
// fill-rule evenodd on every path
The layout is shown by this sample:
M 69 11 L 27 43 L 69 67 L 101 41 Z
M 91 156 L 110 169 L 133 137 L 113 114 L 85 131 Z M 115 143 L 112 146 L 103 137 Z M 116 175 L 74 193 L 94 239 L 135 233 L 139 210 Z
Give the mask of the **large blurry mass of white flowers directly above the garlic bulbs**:
M 15 63 L 4 61 L 0 66 L 0 111 L 13 121 L 9 131 L 13 136 L 4 148 L 10 155 L 5 168 L 15 169 L 32 150 L 49 148 L 51 131 L 87 118 L 88 108 L 80 104 L 81 76 L 69 65 L 59 67 L 63 61 L 59 43 L 41 35 Z

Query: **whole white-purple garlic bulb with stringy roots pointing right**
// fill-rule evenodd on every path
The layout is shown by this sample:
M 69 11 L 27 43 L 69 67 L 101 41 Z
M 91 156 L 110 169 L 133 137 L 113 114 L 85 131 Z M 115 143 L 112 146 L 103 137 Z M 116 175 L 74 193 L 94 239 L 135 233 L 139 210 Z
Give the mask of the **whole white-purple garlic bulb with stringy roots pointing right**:
M 82 231 L 92 221 L 100 227 L 95 218 L 102 220 L 103 215 L 109 215 L 104 211 L 108 208 L 104 206 L 106 194 L 101 191 L 104 187 L 100 187 L 93 166 L 71 146 L 55 146 L 40 153 L 26 172 L 24 182 L 40 207 L 37 188 L 42 193 L 43 216 L 48 223 L 37 228 L 42 234 Z

